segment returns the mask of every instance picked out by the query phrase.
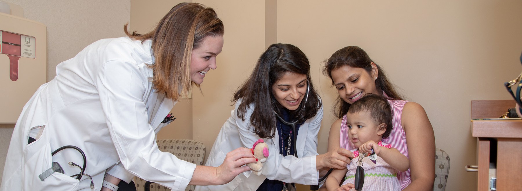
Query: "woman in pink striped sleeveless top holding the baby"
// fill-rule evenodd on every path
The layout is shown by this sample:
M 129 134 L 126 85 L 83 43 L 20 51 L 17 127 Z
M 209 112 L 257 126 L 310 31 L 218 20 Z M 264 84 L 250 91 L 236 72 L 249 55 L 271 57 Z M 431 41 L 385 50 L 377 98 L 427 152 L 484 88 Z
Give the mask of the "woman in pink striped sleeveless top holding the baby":
M 383 138 L 409 159 L 410 169 L 398 172 L 404 190 L 432 190 L 435 178 L 435 137 L 430 120 L 421 105 L 404 100 L 379 67 L 363 49 L 347 46 L 337 50 L 326 61 L 323 73 L 337 88 L 337 117 L 331 125 L 328 150 L 354 149 L 347 142 L 346 113 L 350 105 L 368 94 L 384 96 L 393 110 L 393 129 Z M 407 144 L 408 143 L 408 144 Z M 408 154 L 411 155 L 408 155 Z

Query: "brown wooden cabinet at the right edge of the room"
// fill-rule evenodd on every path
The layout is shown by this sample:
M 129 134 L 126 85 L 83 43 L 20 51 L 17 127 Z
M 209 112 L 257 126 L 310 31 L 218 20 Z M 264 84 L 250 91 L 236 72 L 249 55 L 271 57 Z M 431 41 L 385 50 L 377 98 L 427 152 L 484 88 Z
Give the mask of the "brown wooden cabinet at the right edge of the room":
M 499 118 L 513 107 L 514 100 L 472 100 L 471 119 Z M 490 158 L 496 159 L 496 189 L 520 190 L 522 120 L 471 120 L 471 134 L 478 139 L 478 190 L 490 190 Z

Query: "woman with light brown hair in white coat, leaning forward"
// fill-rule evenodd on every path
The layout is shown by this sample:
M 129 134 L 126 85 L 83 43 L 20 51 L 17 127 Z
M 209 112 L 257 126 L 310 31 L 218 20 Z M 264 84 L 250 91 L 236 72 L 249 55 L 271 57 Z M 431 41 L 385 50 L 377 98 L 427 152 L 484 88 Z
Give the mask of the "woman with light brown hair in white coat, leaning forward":
M 130 34 L 125 26 L 125 33 L 60 63 L 56 77 L 29 100 L 11 138 L 0 190 L 116 190 L 120 180 L 135 175 L 185 190 L 188 184 L 224 184 L 250 170 L 242 167 L 255 162 L 247 148 L 231 151 L 216 168 L 180 160 L 156 144 L 176 101 L 216 69 L 224 33 L 216 12 L 181 3 L 155 30 Z M 66 145 L 79 149 L 60 151 Z

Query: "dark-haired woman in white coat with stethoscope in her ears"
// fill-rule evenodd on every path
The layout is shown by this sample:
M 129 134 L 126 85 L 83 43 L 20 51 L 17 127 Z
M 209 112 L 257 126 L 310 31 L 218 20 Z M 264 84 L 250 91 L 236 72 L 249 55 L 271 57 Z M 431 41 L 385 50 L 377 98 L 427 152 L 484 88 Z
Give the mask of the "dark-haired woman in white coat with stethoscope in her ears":
M 316 185 L 319 169 L 346 167 L 348 157 L 353 157 L 345 149 L 317 155 L 323 107 L 310 78 L 310 63 L 298 47 L 270 45 L 232 101 L 235 109 L 223 124 L 206 165 L 221 165 L 223 153 L 234 147 L 250 148 L 263 139 L 269 155 L 262 173 L 243 173 L 226 185 L 196 186 L 196 190 L 279 191 L 291 189 L 288 183 Z

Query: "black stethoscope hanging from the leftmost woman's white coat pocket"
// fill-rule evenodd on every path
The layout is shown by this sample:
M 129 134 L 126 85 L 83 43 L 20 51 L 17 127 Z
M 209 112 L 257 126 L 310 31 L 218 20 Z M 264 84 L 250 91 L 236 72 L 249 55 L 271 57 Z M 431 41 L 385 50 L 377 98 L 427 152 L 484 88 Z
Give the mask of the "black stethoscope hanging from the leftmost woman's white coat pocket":
M 77 150 L 78 152 L 80 152 L 81 157 L 84 159 L 84 164 L 82 165 L 82 167 L 80 167 L 80 165 L 78 165 L 78 164 L 75 164 L 74 162 L 69 162 L 68 163 L 69 165 L 72 165 L 72 166 L 80 168 L 80 173 L 72 175 L 70 177 L 76 176 L 76 180 L 80 181 L 81 177 L 83 175 L 87 175 L 87 176 L 89 176 L 89 179 L 91 180 L 91 186 L 90 187 L 91 187 L 91 189 L 94 189 L 94 184 L 92 183 L 92 177 L 89 174 L 84 173 L 85 172 L 85 167 L 87 165 L 87 158 L 85 157 L 85 153 L 84 153 L 83 150 L 81 150 L 77 146 L 66 145 L 66 146 L 63 146 L 63 147 L 60 147 L 60 148 L 54 150 L 51 153 L 51 156 L 54 156 L 57 152 L 59 152 L 59 151 L 61 151 L 63 149 L 66 149 L 66 148 L 72 148 L 72 149 Z M 44 181 L 47 177 L 49 177 L 51 174 L 53 174 L 55 172 L 59 172 L 59 173 L 62 173 L 62 174 L 64 173 L 64 170 L 62 169 L 61 165 L 58 164 L 58 162 L 53 162 L 53 166 L 50 169 L 44 171 L 42 174 L 38 175 L 38 177 L 40 177 L 41 181 Z

